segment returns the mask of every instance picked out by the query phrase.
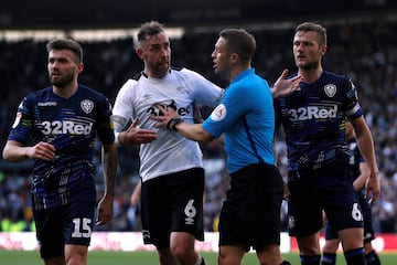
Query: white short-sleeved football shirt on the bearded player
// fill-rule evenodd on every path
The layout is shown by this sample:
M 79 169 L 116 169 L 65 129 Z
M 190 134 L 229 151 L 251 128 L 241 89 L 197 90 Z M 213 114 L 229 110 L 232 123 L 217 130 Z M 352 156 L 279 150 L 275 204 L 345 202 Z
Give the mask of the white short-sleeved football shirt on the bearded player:
M 223 89 L 196 72 L 172 68 L 162 78 L 141 73 L 128 80 L 118 92 L 112 117 L 115 131 L 120 132 L 128 121 L 139 119 L 142 129 L 157 130 L 157 140 L 140 145 L 140 176 L 142 181 L 202 167 L 202 151 L 196 141 L 167 128 L 154 128 L 151 115 L 160 115 L 155 104 L 173 107 L 185 123 L 193 123 L 193 103 L 215 107 Z

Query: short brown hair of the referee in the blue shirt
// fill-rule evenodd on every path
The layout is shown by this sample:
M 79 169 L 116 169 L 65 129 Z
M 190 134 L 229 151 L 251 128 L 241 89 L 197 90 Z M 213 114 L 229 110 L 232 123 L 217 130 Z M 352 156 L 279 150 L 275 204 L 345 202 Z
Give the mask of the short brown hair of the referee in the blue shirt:
M 242 61 L 249 61 L 256 51 L 255 38 L 244 29 L 225 29 L 219 36 L 226 40 L 229 53 L 236 53 Z

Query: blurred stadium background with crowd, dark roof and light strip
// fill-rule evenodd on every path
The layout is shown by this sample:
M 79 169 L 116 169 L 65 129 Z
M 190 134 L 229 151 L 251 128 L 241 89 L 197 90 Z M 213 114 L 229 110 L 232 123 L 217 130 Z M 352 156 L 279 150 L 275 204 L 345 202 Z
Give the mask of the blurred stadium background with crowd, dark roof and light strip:
M 84 49 L 79 77 L 114 103 L 121 85 L 142 70 L 133 51 L 137 28 L 164 23 L 172 36 L 172 65 L 185 66 L 226 86 L 215 76 L 210 57 L 217 33 L 245 28 L 257 40 L 253 66 L 269 84 L 283 68 L 294 71 L 292 35 L 303 21 L 328 29 L 325 70 L 347 74 L 358 89 L 365 117 L 374 135 L 380 170 L 382 195 L 374 204 L 377 233 L 397 231 L 397 2 L 391 0 L 13 0 L 0 9 L 0 147 L 4 146 L 22 97 L 49 86 L 45 43 L 72 36 Z M 203 109 L 204 116 L 211 109 Z M 223 148 L 203 145 L 206 167 L 205 230 L 214 231 L 228 188 Z M 276 144 L 286 177 L 286 147 Z M 99 145 L 96 147 L 98 198 L 103 192 Z M 97 231 L 139 231 L 139 208 L 130 194 L 139 181 L 137 148 L 119 148 L 115 216 Z M 0 159 L 0 232 L 32 231 L 30 170 L 32 162 Z M 286 205 L 282 211 L 286 229 Z

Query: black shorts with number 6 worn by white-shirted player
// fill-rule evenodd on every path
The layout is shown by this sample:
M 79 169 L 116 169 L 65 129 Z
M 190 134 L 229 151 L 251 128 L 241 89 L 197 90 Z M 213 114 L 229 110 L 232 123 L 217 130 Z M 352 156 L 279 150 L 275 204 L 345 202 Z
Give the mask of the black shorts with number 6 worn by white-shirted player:
M 169 247 L 171 232 L 186 232 L 204 240 L 204 169 L 193 168 L 142 182 L 144 244 Z

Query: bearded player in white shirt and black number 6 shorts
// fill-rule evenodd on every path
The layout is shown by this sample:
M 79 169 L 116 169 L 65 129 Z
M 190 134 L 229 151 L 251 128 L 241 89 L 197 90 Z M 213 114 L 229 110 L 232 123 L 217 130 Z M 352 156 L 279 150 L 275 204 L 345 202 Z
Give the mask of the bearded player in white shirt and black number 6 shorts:
M 194 250 L 194 241 L 204 240 L 202 151 L 176 131 L 155 128 L 150 117 L 162 115 L 154 107 L 160 103 L 194 123 L 194 104 L 216 106 L 223 89 L 170 66 L 170 40 L 159 22 L 141 25 L 136 52 L 144 68 L 118 92 L 112 118 L 119 145 L 140 144 L 143 242 L 155 245 L 161 265 L 204 265 Z

